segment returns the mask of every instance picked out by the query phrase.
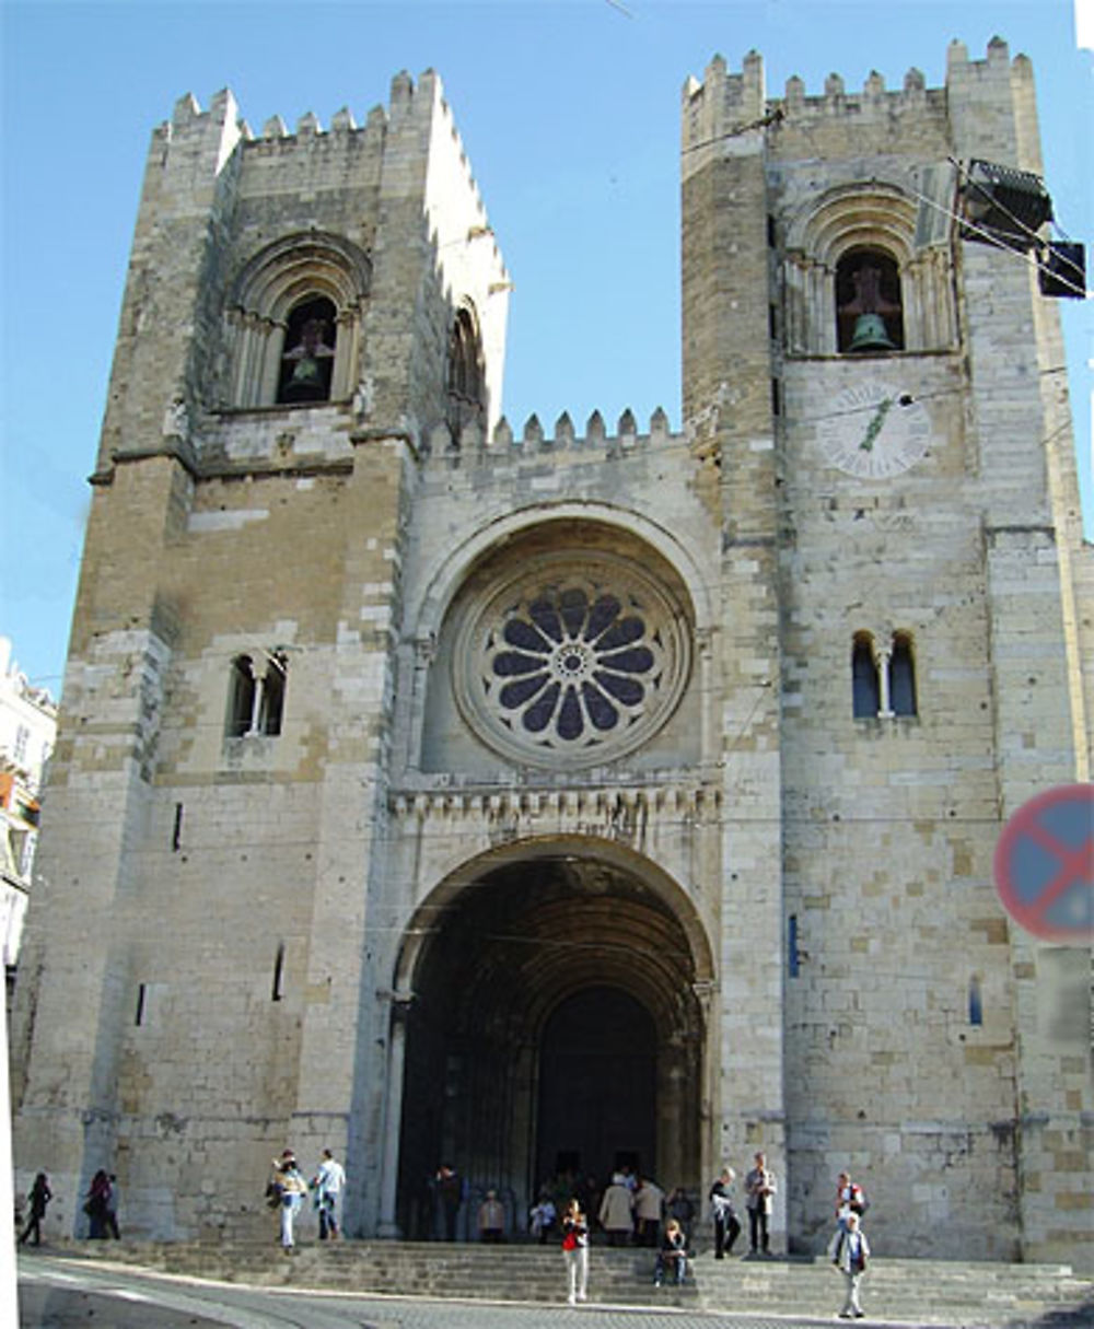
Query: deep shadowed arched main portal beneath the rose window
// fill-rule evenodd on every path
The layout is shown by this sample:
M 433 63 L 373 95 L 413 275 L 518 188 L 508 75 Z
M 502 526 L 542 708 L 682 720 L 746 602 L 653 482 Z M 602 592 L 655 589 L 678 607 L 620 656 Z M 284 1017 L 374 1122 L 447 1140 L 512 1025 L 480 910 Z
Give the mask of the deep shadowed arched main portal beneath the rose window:
M 596 841 L 516 847 L 412 922 L 396 1219 L 436 1233 L 443 1162 L 522 1223 L 540 1184 L 631 1162 L 698 1185 L 705 1017 L 683 892 Z M 657 880 L 654 880 L 657 878 Z M 407 960 L 413 950 L 413 960 Z

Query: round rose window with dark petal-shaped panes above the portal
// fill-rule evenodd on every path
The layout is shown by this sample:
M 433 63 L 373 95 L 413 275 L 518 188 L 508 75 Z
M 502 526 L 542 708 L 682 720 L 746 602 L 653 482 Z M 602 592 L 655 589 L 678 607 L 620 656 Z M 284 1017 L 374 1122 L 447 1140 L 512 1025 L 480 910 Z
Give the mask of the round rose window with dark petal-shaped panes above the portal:
M 686 634 L 666 594 L 622 560 L 602 577 L 552 571 L 510 583 L 472 615 L 457 692 L 493 746 L 592 763 L 667 718 Z

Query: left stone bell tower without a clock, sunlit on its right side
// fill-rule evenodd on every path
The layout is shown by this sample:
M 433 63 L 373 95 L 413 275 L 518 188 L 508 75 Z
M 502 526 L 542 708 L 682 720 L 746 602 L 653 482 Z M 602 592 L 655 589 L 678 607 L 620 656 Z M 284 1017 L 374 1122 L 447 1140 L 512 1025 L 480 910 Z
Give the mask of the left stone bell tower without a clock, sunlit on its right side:
M 255 136 L 223 92 L 153 134 L 15 1031 L 19 1156 L 68 1195 L 124 1164 L 148 1235 L 209 1221 L 182 1152 L 262 1175 L 290 1123 L 363 1128 L 408 512 L 494 423 L 508 287 L 432 72 L 362 126 Z

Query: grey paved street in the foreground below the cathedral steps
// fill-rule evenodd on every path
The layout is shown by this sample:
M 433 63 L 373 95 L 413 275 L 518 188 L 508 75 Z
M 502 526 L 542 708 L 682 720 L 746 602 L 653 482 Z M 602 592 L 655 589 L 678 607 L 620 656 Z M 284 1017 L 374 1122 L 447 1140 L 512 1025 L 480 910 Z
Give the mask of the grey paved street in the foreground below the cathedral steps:
M 36 1255 L 20 1259 L 20 1329 L 788 1329 L 800 1316 L 711 1314 L 673 1308 L 436 1301 L 205 1282 Z M 865 1320 L 864 1325 L 896 1324 Z M 903 1324 L 907 1324 L 903 1322 Z

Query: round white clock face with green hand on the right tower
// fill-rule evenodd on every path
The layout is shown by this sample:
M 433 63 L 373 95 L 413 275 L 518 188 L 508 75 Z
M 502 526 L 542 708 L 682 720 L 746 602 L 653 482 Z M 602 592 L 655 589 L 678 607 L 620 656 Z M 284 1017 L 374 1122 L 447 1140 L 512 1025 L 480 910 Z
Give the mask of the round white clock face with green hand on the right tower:
M 930 443 L 924 404 L 885 383 L 844 388 L 816 427 L 833 466 L 860 480 L 887 480 L 913 466 Z

